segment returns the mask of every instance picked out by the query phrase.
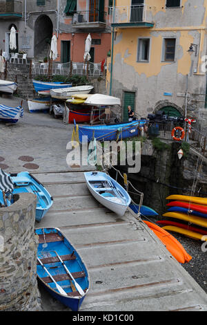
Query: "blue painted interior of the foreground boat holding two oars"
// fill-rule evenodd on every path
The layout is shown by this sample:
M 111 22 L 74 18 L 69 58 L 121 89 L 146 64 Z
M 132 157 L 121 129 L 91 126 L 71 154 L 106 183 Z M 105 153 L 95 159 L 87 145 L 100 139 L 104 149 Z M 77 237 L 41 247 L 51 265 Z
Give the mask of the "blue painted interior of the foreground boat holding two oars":
M 43 232 L 44 234 L 49 234 L 53 232 L 62 235 L 55 228 L 43 228 L 43 229 L 41 228 L 41 229 L 36 229 L 35 232 L 36 234 L 43 234 Z M 84 272 L 85 276 L 76 278 L 75 281 L 77 281 L 77 283 L 79 284 L 79 286 L 81 286 L 83 290 L 88 289 L 89 280 L 88 280 L 88 271 L 86 269 L 86 266 L 83 264 L 83 262 L 81 261 L 81 257 L 79 257 L 79 254 L 77 254 L 77 252 L 70 244 L 70 242 L 66 239 L 66 237 L 64 237 L 63 241 L 55 241 L 55 242 L 47 243 L 46 248 L 44 247 L 44 243 L 39 243 L 37 249 L 37 257 L 39 257 L 39 259 L 43 259 L 47 257 L 57 257 L 57 254 L 55 252 L 59 254 L 61 259 L 63 255 L 72 254 L 72 252 L 74 252 L 76 259 L 63 261 L 63 262 L 65 263 L 70 273 L 81 272 L 81 271 Z M 45 266 L 47 270 L 50 272 L 50 275 L 52 275 L 52 277 L 54 277 L 55 275 L 66 275 L 66 270 L 60 261 L 55 263 L 48 263 L 45 264 Z M 43 277 L 48 277 L 47 272 L 42 268 L 41 265 L 37 265 L 37 275 L 39 276 L 40 279 Z M 66 293 L 72 293 L 72 288 L 70 286 L 70 279 L 58 281 L 58 284 L 59 286 L 61 286 L 61 288 L 63 288 L 63 290 L 65 290 Z M 57 293 L 59 293 L 54 282 L 51 281 L 48 284 L 48 286 L 53 290 L 55 290 Z

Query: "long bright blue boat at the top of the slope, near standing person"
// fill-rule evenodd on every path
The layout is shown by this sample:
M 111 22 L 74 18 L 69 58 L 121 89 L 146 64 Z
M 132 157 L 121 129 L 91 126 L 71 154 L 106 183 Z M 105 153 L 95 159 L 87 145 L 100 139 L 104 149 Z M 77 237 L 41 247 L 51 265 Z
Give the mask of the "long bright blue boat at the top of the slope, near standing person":
M 94 137 L 97 141 L 132 138 L 132 136 L 139 135 L 139 127 L 144 126 L 144 124 L 146 124 L 146 120 L 110 125 L 79 126 L 79 141 L 81 143 L 90 142 Z

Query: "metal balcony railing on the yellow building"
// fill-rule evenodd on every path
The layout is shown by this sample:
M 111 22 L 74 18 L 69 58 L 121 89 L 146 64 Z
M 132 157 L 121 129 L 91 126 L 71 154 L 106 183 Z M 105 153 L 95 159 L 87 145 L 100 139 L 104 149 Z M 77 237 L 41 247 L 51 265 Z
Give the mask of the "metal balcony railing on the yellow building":
M 146 22 L 148 5 L 110 7 L 110 24 Z

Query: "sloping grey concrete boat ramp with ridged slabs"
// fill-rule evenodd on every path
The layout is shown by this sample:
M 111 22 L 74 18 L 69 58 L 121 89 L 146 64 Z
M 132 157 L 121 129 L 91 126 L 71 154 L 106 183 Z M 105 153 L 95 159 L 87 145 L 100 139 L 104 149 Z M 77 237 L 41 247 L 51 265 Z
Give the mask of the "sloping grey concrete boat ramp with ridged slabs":
M 81 311 L 207 310 L 207 295 L 145 223 L 90 195 L 82 172 L 34 174 L 54 203 L 39 227 L 57 227 L 88 267 Z M 44 310 L 68 310 L 41 290 Z

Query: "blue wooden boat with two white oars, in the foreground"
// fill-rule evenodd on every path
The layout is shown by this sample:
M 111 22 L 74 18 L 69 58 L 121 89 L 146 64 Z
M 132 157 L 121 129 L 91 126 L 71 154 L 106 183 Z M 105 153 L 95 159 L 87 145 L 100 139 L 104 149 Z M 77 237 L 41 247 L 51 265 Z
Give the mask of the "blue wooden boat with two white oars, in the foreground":
M 79 310 L 89 290 L 88 270 L 77 250 L 58 228 L 38 228 L 37 277 L 48 292 Z

